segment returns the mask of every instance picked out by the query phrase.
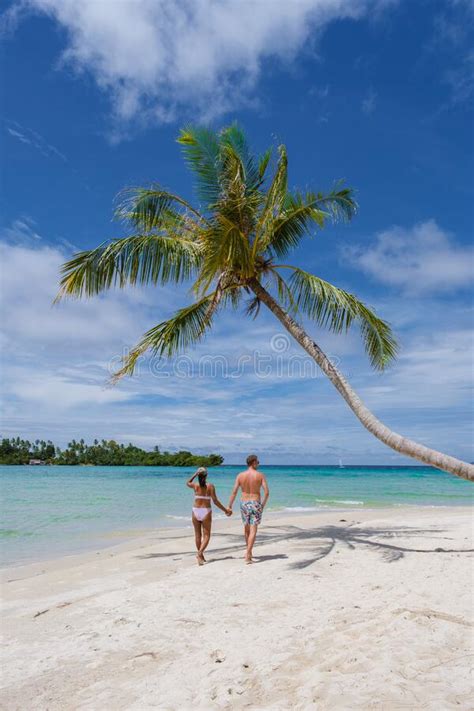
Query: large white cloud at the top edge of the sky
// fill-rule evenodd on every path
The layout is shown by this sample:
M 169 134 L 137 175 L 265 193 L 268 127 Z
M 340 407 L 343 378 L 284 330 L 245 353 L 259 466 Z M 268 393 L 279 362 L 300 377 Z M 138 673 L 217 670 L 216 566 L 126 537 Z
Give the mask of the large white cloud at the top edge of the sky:
M 289 61 L 328 23 L 391 0 L 23 0 L 67 31 L 64 65 L 89 72 L 121 121 L 212 117 L 252 100 L 265 60 Z M 13 6 L 12 17 L 18 13 Z

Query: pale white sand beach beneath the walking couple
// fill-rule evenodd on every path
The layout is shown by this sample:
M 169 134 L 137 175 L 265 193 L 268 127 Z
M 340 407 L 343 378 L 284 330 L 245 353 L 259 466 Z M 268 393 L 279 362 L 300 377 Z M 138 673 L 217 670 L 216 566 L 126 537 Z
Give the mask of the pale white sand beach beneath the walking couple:
M 344 520 L 343 520 L 344 519 Z M 472 709 L 467 508 L 267 515 L 3 571 L 2 709 Z

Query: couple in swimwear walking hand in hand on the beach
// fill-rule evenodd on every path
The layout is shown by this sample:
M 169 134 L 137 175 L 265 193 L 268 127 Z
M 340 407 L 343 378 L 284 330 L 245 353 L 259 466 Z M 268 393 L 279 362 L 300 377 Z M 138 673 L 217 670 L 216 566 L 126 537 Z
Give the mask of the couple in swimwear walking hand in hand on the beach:
M 196 539 L 197 561 L 199 565 L 204 565 L 204 551 L 209 545 L 212 526 L 211 500 L 220 508 L 226 516 L 232 516 L 232 507 L 239 489 L 242 490 L 240 499 L 240 514 L 244 524 L 244 535 L 246 542 L 245 562 L 252 563 L 252 550 L 257 535 L 257 527 L 262 520 L 263 509 L 268 501 L 270 491 L 268 489 L 265 476 L 257 470 L 259 465 L 258 457 L 250 454 L 247 457 L 247 469 L 237 474 L 234 488 L 230 495 L 227 508 L 221 504 L 217 498 L 214 484 L 207 481 L 207 469 L 200 467 L 197 472 L 186 482 L 186 486 L 194 489 L 193 505 L 193 526 Z M 198 478 L 198 482 L 194 481 Z M 263 489 L 263 501 L 260 499 L 260 491 Z

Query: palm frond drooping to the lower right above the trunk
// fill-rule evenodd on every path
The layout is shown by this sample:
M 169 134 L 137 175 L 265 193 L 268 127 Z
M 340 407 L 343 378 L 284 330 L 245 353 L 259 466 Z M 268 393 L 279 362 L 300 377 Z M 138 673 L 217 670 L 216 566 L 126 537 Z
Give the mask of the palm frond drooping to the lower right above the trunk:
M 302 269 L 289 268 L 293 270 L 289 288 L 302 313 L 333 333 L 347 331 L 353 322 L 357 322 L 371 365 L 378 370 L 383 370 L 395 359 L 398 345 L 386 321 L 353 294 Z

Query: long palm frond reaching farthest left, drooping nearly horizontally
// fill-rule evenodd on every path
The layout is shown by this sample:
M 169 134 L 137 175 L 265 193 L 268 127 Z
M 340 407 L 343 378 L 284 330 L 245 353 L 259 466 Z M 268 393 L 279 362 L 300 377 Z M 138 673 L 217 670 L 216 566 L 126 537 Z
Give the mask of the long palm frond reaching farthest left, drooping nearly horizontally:
M 90 297 L 126 284 L 166 284 L 189 279 L 200 264 L 199 243 L 177 235 L 133 235 L 79 252 L 61 268 L 65 296 Z

